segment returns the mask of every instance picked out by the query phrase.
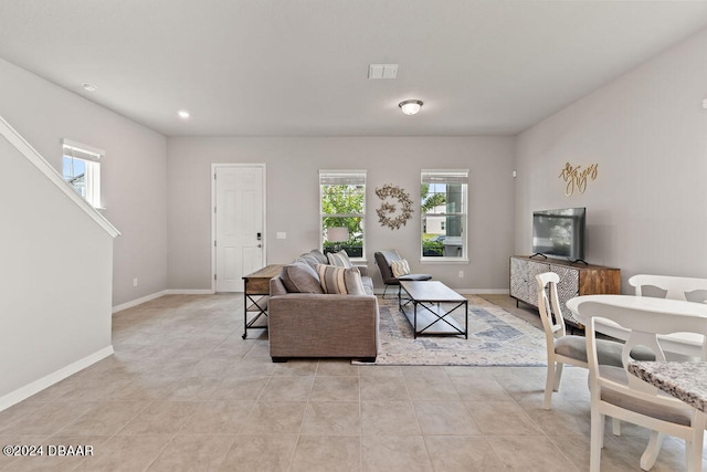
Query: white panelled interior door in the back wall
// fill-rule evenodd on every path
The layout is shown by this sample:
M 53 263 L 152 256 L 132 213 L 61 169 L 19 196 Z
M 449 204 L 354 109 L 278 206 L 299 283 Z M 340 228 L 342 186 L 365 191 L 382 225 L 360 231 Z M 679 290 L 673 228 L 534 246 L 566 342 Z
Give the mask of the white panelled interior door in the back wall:
M 264 169 L 214 169 L 215 291 L 243 292 L 243 275 L 265 265 Z

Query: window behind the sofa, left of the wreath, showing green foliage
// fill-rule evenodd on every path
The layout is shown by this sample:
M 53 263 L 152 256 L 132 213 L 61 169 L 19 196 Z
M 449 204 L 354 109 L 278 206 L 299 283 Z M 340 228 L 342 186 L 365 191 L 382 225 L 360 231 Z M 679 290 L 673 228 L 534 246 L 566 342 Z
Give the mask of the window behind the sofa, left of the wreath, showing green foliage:
M 346 250 L 351 259 L 362 259 L 366 217 L 366 170 L 319 170 L 319 214 L 321 221 L 321 250 L 324 253 Z M 329 228 L 341 234 L 328 240 Z M 346 237 L 348 239 L 340 240 Z

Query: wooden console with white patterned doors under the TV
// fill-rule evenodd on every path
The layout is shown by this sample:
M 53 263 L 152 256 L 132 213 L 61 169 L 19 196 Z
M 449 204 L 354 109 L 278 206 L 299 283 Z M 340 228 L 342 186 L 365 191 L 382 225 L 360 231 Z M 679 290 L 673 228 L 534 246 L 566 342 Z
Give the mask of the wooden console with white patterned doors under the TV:
M 564 305 L 568 300 L 578 295 L 599 293 L 621 293 L 621 270 L 602 265 L 581 265 L 561 259 L 531 259 L 528 255 L 510 258 L 510 296 L 518 302 L 538 307 L 538 284 L 535 280 L 542 272 L 555 272 L 560 276 L 557 292 L 560 298 L 562 316 L 567 324 L 583 328 Z

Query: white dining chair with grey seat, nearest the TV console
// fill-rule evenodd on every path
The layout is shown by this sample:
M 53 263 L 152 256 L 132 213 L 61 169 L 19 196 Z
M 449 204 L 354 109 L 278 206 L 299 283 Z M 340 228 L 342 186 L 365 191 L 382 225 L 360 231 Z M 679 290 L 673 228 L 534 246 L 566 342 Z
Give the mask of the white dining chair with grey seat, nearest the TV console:
M 545 380 L 545 398 L 542 408 L 550 409 L 552 392 L 560 388 L 562 378 L 562 367 L 570 364 L 577 367 L 588 368 L 587 343 L 583 336 L 568 335 L 560 308 L 557 284 L 560 276 L 555 272 L 545 272 L 535 276 L 538 284 L 538 311 L 542 328 L 545 329 L 545 340 L 548 353 L 548 371 Z M 598 349 L 600 352 L 600 363 L 612 366 L 621 366 L 622 344 L 599 339 Z M 654 357 L 646 349 L 636 349 L 634 353 L 641 360 L 653 360 Z M 619 433 L 619 423 L 614 423 L 614 433 Z

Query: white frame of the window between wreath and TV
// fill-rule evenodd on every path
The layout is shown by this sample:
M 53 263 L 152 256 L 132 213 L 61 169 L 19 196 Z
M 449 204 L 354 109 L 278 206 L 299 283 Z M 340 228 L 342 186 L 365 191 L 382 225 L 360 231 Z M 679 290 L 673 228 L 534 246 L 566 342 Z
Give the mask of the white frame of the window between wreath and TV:
M 444 185 L 461 185 L 461 203 L 462 211 L 447 211 L 449 207 L 445 208 L 444 212 L 430 212 L 423 211 L 422 203 L 423 198 L 425 196 L 420 195 L 420 262 L 423 263 L 454 263 L 454 262 L 468 262 L 468 169 L 422 169 L 420 171 L 420 187 L 422 189 L 422 185 L 434 185 L 434 183 L 444 183 Z M 446 201 L 445 201 L 446 206 Z M 425 221 L 429 217 L 453 217 L 461 219 L 461 239 L 462 243 L 462 253 L 458 256 L 450 256 L 450 255 L 425 255 L 424 254 L 424 234 L 425 234 Z M 444 224 L 445 227 L 451 227 L 451 224 Z M 445 238 L 447 237 L 447 229 L 444 230 Z M 456 237 L 454 237 L 456 238 Z

